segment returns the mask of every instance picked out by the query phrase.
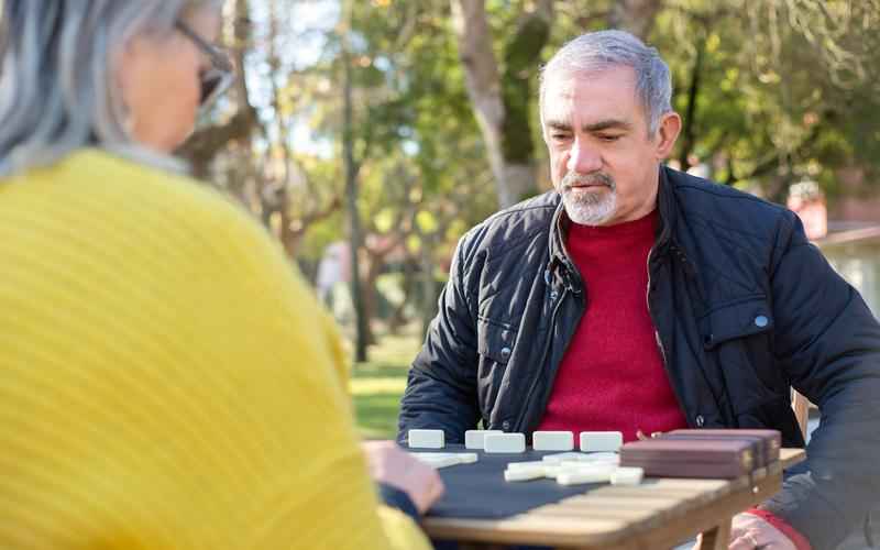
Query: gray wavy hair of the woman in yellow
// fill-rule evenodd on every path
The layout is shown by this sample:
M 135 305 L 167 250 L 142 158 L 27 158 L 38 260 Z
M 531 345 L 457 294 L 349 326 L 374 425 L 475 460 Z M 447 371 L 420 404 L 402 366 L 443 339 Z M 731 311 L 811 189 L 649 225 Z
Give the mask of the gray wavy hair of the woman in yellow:
M 134 142 L 114 57 L 143 32 L 172 32 L 222 0 L 0 0 L 0 177 L 100 146 L 182 167 Z

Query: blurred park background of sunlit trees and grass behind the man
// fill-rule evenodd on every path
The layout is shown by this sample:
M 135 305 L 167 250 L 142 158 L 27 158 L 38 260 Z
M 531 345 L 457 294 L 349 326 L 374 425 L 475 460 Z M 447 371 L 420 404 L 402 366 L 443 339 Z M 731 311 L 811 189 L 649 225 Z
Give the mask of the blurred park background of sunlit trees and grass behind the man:
M 458 239 L 551 188 L 538 69 L 586 31 L 658 47 L 684 120 L 670 164 L 798 211 L 880 315 L 880 0 L 228 0 L 223 13 L 238 77 L 182 153 L 336 316 L 366 437 L 394 436 Z

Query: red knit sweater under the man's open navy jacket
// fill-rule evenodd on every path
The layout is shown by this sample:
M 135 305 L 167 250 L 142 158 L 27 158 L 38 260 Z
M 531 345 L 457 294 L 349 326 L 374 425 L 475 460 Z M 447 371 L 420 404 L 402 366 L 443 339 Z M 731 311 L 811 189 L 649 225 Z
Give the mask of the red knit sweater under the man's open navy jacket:
M 609 227 L 572 223 L 566 248 L 586 311 L 559 366 L 539 430 L 622 431 L 624 440 L 686 428 L 648 315 L 657 212 Z

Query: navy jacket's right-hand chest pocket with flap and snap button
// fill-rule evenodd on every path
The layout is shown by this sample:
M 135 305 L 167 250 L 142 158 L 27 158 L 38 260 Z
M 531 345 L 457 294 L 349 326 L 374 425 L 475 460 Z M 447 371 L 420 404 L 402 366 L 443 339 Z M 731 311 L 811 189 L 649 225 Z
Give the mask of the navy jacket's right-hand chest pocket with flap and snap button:
M 787 395 L 772 353 L 773 315 L 766 296 L 726 301 L 698 324 L 706 363 L 721 373 L 737 418 Z

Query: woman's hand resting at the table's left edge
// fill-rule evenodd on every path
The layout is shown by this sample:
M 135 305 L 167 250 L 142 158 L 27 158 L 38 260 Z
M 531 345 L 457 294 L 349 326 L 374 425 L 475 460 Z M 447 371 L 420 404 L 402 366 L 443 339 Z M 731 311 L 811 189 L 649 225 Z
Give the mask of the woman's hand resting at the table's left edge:
M 364 441 L 361 447 L 373 479 L 409 495 L 419 514 L 443 496 L 443 482 L 437 470 L 414 459 L 394 441 Z

